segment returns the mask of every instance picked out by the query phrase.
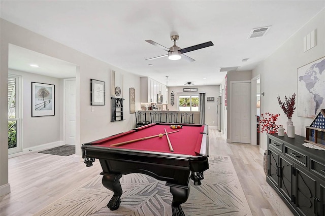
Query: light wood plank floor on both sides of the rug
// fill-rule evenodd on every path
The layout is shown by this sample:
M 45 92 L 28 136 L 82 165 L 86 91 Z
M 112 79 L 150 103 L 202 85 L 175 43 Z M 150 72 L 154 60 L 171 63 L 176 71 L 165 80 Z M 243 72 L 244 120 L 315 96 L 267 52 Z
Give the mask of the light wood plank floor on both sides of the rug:
M 210 155 L 229 156 L 253 215 L 293 215 L 266 183 L 259 146 L 226 143 L 216 129 L 209 129 Z M 33 215 L 86 183 L 102 171 L 75 162 L 75 156 L 30 153 L 9 159 L 11 193 L 0 198 L 0 215 Z

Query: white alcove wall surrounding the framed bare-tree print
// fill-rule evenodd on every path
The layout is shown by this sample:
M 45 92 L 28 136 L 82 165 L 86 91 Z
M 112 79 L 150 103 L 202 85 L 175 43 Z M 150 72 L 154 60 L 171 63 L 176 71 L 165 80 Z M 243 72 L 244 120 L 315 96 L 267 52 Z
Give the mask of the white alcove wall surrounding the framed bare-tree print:
M 60 138 L 60 119 L 63 98 L 60 79 L 26 73 L 24 71 L 9 69 L 9 73 L 22 77 L 22 147 L 24 149 L 58 142 Z M 44 117 L 31 117 L 31 82 L 55 85 L 55 115 Z

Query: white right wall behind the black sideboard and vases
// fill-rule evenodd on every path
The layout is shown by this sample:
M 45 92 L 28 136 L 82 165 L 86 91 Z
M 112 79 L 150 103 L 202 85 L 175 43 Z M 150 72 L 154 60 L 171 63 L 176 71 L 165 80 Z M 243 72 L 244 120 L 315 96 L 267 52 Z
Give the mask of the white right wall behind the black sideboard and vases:
M 303 52 L 303 38 L 314 29 L 316 29 L 316 47 Z M 279 113 L 280 117 L 276 122 L 277 125 L 286 125 L 287 121 L 277 102 L 277 97 L 280 96 L 283 100 L 285 95 L 292 96 L 294 92 L 299 93 L 297 68 L 325 56 L 324 39 L 325 10 L 322 10 L 253 70 L 253 77 L 261 74 L 261 92 L 265 92 L 265 96 L 261 96 L 261 113 Z M 297 109 L 293 115 L 295 132 L 298 135 L 305 136 L 305 126 L 309 126 L 313 119 L 298 117 Z M 261 134 L 260 148 L 261 152 L 267 149 L 265 132 Z

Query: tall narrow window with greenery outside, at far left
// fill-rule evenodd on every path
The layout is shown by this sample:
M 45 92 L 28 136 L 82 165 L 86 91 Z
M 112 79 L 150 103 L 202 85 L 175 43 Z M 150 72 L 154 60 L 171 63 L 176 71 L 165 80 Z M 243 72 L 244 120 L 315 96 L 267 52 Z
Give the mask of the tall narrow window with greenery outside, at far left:
M 21 151 L 20 77 L 8 76 L 8 152 Z

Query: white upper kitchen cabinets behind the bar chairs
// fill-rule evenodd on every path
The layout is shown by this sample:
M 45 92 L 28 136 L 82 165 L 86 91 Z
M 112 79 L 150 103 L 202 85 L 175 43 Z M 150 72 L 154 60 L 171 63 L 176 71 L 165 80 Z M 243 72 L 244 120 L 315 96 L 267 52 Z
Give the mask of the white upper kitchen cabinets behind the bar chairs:
M 140 84 L 140 101 L 142 103 L 157 103 L 157 94 L 163 95 L 163 103 L 165 103 L 167 100 L 167 95 L 166 86 L 164 84 L 161 84 L 149 77 L 141 77 Z

